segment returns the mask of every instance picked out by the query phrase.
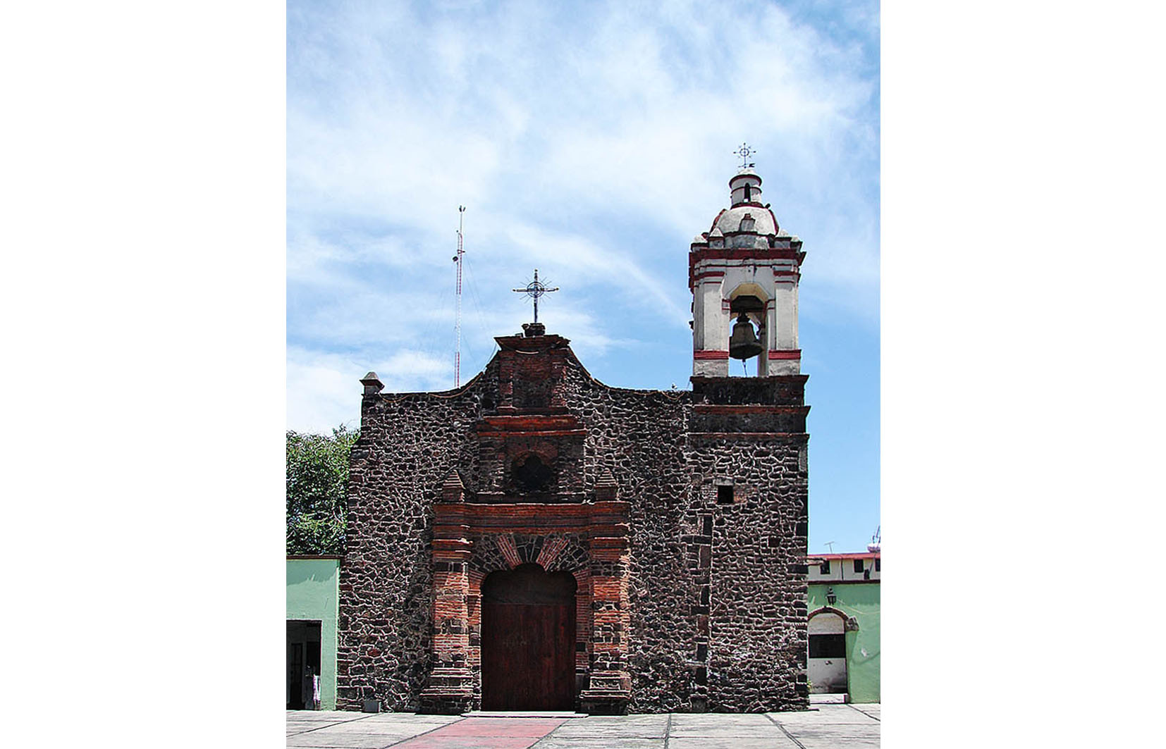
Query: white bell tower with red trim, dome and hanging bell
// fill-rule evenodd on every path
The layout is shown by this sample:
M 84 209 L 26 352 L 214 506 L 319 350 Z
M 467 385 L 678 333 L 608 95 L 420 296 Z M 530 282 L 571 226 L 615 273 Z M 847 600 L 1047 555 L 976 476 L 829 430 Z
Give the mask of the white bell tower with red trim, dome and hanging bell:
M 724 377 L 729 359 L 757 359 L 757 376 L 801 373 L 798 281 L 806 253 L 761 200 L 746 163 L 729 181 L 731 205 L 693 239 L 693 375 Z

